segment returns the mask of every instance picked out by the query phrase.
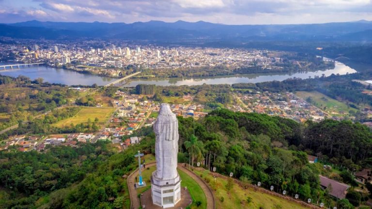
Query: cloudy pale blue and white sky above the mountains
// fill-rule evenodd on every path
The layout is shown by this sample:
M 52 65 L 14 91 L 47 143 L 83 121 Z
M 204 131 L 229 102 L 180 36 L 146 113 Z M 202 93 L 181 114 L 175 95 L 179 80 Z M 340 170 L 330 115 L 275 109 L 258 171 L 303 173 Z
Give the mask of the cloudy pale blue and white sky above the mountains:
M 303 24 L 372 20 L 372 0 L 0 0 L 0 22 L 161 20 Z

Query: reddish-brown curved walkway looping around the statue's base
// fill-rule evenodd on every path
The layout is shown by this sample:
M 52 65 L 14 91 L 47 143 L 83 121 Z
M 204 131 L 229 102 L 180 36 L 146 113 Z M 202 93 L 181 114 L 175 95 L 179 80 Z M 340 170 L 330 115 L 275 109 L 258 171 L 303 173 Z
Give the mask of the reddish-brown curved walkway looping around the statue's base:
M 156 163 L 149 163 L 146 164 L 146 167 L 155 166 Z M 189 175 L 192 179 L 194 179 L 202 188 L 205 197 L 207 199 L 207 209 L 215 209 L 215 197 L 211 190 L 211 188 L 208 186 L 208 184 L 203 181 L 198 175 L 196 175 L 194 172 L 191 172 L 186 167 L 184 167 L 182 164 L 178 164 L 178 169 L 185 172 L 187 175 Z M 138 198 L 137 191 L 134 188 L 135 178 L 138 175 L 138 168 L 133 171 L 127 179 L 127 185 L 128 185 L 128 191 L 129 191 L 129 197 L 130 197 L 130 209 L 139 209 L 140 208 L 140 198 Z

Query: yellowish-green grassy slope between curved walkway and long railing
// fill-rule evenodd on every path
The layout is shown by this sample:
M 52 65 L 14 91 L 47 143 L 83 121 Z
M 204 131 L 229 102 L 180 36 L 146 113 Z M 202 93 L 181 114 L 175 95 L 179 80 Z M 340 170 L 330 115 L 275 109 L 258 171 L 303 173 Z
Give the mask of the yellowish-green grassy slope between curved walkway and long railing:
M 227 180 L 215 179 L 205 172 L 198 172 L 202 177 L 209 179 L 209 185 L 216 196 L 216 208 L 218 209 L 307 209 L 299 204 L 288 202 L 276 196 L 255 192 L 253 189 L 244 189 L 243 187 L 233 183 L 233 188 L 230 192 L 226 189 Z M 214 190 L 215 188 L 216 190 Z M 223 201 L 221 201 L 223 197 Z M 252 198 L 248 203 L 248 197 Z

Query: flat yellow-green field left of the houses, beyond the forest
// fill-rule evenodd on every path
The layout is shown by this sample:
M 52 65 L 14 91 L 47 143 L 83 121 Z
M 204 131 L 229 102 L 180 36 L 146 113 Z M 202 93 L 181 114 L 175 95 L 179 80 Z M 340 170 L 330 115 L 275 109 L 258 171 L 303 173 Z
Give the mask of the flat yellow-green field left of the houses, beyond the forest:
M 98 118 L 99 121 L 97 125 L 103 125 L 109 119 L 111 114 L 114 112 L 115 108 L 82 108 L 78 114 L 69 119 L 64 119 L 54 124 L 56 127 L 69 126 L 71 123 L 74 125 L 80 123 L 87 123 L 88 119 L 91 119 L 94 122 L 95 118 Z

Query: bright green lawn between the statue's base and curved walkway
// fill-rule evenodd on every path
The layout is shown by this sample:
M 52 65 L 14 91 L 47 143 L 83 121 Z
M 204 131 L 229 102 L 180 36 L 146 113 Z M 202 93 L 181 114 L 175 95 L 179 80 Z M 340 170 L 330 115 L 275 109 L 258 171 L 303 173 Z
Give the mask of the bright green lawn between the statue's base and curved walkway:
M 153 156 L 153 155 L 151 155 L 151 156 Z M 148 162 L 147 159 L 146 159 L 146 162 Z M 150 176 L 152 175 L 152 173 L 155 170 L 156 170 L 156 166 L 152 166 L 152 167 L 146 168 L 142 172 L 142 179 L 143 179 L 143 181 L 146 182 L 146 186 L 139 188 L 137 190 L 138 194 L 141 194 L 141 193 L 143 193 L 146 190 L 151 188 Z M 199 209 L 206 209 L 207 199 L 205 197 L 205 194 L 204 194 L 202 188 L 199 186 L 199 184 L 194 179 L 189 177 L 186 173 L 184 173 L 183 171 L 178 170 L 178 174 L 180 175 L 181 180 L 182 180 L 181 181 L 182 188 L 187 187 L 187 190 L 189 191 L 189 193 L 191 195 L 191 198 L 193 199 L 193 205 L 192 206 L 194 206 L 197 201 L 200 201 L 202 203 L 202 205 L 199 207 Z M 138 178 L 139 177 L 137 176 L 137 180 L 138 180 Z

